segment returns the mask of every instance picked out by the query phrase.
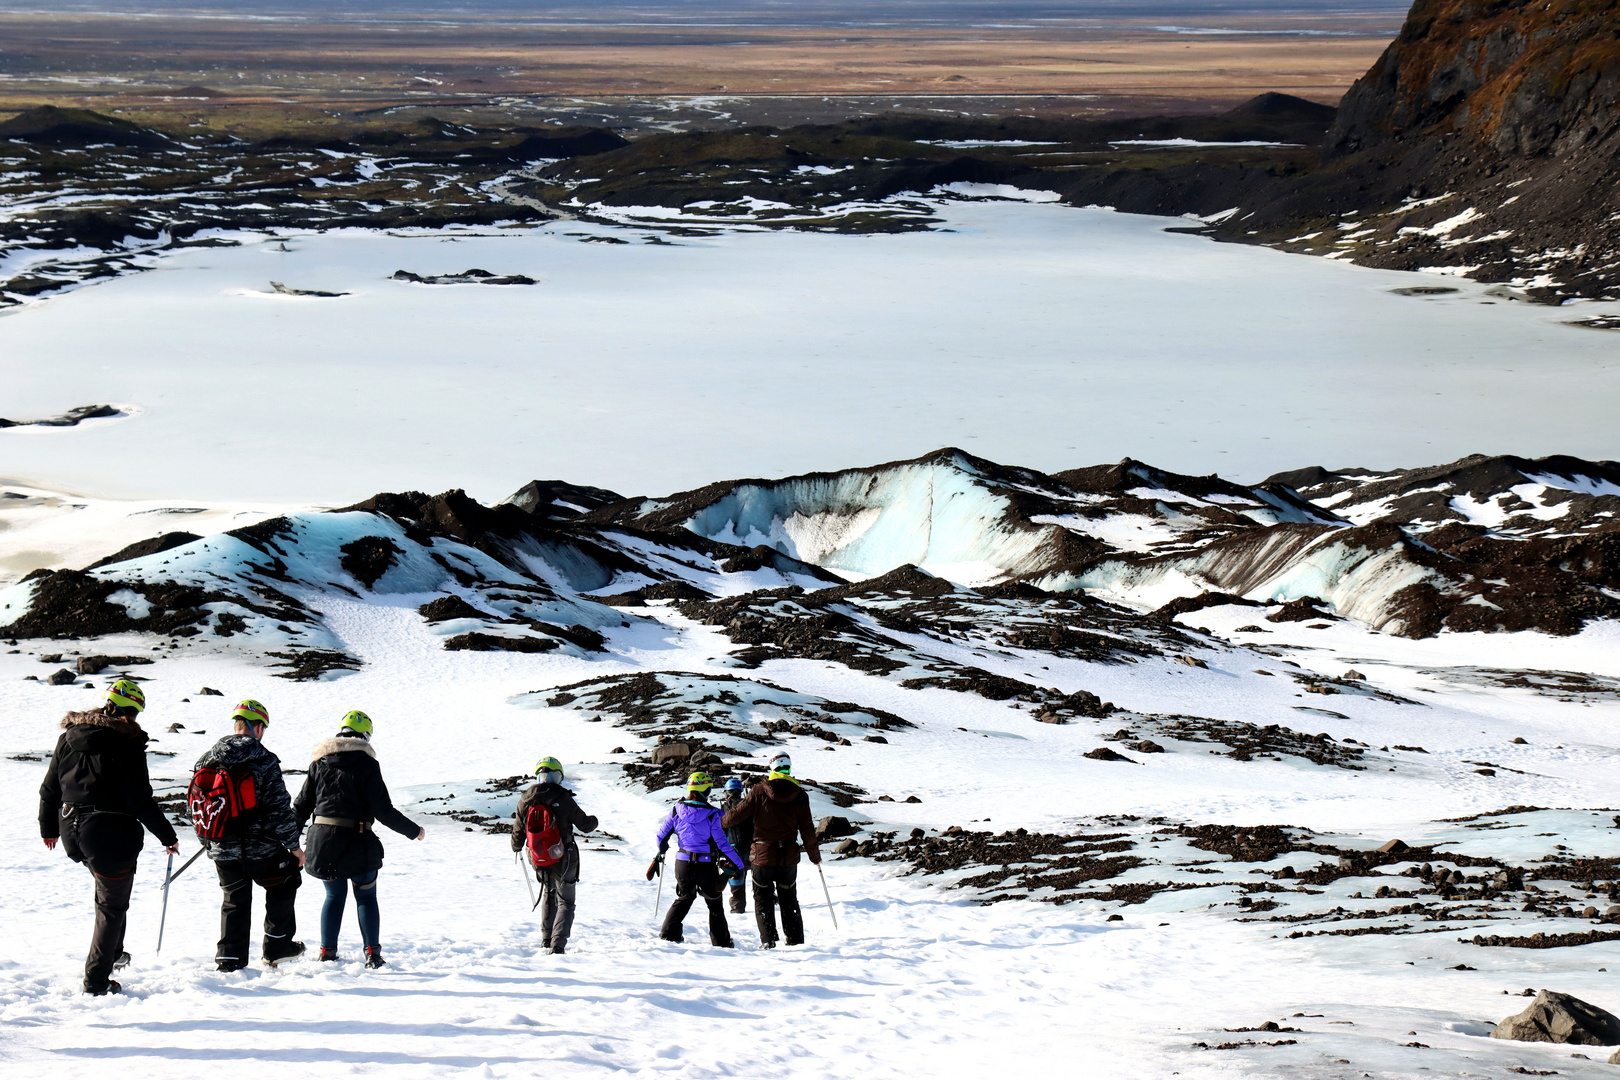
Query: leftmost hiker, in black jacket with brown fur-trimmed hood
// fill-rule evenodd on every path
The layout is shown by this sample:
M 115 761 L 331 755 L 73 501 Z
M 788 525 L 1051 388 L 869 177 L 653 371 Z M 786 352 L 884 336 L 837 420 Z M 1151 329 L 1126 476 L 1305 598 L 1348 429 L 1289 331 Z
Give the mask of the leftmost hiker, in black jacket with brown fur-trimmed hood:
M 107 690 L 107 703 L 89 712 L 68 712 L 62 738 L 39 785 L 39 836 L 55 850 L 57 840 L 75 863 L 96 876 L 96 933 L 84 959 L 84 993 L 117 994 L 113 967 L 128 962 L 123 929 L 130 913 L 134 865 L 146 834 L 178 853 L 180 837 L 152 801 L 146 772 L 146 732 L 138 716 L 146 693 L 128 678 Z

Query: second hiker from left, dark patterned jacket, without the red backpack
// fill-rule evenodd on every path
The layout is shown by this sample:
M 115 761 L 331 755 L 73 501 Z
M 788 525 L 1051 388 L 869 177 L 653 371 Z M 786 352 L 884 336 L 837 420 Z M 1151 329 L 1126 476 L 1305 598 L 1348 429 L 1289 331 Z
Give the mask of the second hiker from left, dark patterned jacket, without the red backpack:
M 225 826 L 225 836 L 202 840 L 214 860 L 225 899 L 219 908 L 219 947 L 214 962 L 220 972 L 248 965 L 248 936 L 253 933 L 253 886 L 264 889 L 264 962 L 303 954 L 298 933 L 298 886 L 303 876 L 303 848 L 298 847 L 298 819 L 282 779 L 282 759 L 266 750 L 264 729 L 269 711 L 248 699 L 230 714 L 237 730 L 198 758 L 196 769 L 228 771 L 233 780 L 251 776 L 254 808 Z M 193 813 L 193 816 L 196 816 Z M 201 832 L 201 829 L 199 829 Z

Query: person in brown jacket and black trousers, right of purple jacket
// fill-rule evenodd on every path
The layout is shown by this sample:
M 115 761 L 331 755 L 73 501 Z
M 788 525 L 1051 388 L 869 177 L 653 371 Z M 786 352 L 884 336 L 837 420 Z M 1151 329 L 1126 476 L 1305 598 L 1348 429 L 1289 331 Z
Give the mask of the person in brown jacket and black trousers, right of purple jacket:
M 804 839 L 810 861 L 821 863 L 821 848 L 815 842 L 815 821 L 810 818 L 810 797 L 794 779 L 792 758 L 781 753 L 771 758 L 771 772 L 748 790 L 737 806 L 724 816 L 721 826 L 731 829 L 745 821 L 753 823 L 753 847 L 748 863 L 753 868 L 753 916 L 760 925 L 760 947 L 776 947 L 776 905 L 782 908 L 782 936 L 789 946 L 805 941 L 805 920 L 799 910 L 799 839 Z

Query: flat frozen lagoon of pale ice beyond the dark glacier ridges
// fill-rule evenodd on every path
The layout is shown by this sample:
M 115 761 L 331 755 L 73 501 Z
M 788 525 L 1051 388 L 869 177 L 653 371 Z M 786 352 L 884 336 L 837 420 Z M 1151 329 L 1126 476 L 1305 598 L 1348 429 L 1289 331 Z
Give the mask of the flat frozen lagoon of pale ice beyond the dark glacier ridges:
M 107 495 L 663 494 L 959 445 L 1042 470 L 1615 457 L 1620 337 L 1437 275 L 944 202 L 948 230 L 340 232 L 198 248 L 0 317 L 0 476 Z M 629 243 L 601 243 L 604 238 Z M 588 243 L 595 241 L 595 243 Z M 285 246 L 287 251 L 280 248 Z M 526 274 L 415 285 L 395 270 Z M 269 282 L 340 298 L 275 295 Z M 1455 285 L 1403 296 L 1411 285 Z

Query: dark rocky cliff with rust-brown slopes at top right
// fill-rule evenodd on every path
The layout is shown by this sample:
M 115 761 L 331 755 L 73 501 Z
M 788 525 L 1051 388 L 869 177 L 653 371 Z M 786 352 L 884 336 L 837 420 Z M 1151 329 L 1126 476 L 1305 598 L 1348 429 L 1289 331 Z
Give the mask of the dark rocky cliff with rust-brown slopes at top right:
M 1218 235 L 1562 303 L 1620 295 L 1620 5 L 1418 0 L 1345 94 L 1322 165 Z

